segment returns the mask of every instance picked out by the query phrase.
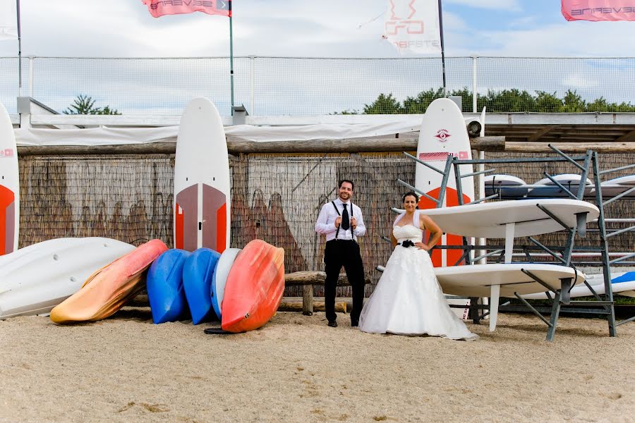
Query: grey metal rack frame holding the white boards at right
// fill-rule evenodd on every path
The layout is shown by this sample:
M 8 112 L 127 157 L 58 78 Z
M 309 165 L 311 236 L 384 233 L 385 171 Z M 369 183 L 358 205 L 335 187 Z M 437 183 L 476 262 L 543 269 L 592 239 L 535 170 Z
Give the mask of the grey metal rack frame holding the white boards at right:
M 571 281 L 571 278 L 568 278 L 567 280 L 562 280 L 562 287 L 560 289 L 555 289 L 552 286 L 550 286 L 548 283 L 545 283 L 544 281 L 541 281 L 540 278 L 536 277 L 536 275 L 531 274 L 531 272 L 528 271 L 524 271 L 525 274 L 527 274 L 528 276 L 530 276 L 531 278 L 533 278 L 534 281 L 540 283 L 541 285 L 545 286 L 545 288 L 548 289 L 548 296 L 551 298 L 551 305 L 550 307 L 540 307 L 540 306 L 536 306 L 536 305 L 531 305 L 527 300 L 525 300 L 524 298 L 521 298 L 520 295 L 518 295 L 517 293 L 515 293 L 514 295 L 516 296 L 516 298 L 518 298 L 518 300 L 521 301 L 522 306 L 514 306 L 514 305 L 509 305 L 509 302 L 505 303 L 504 305 L 500 305 L 499 309 L 500 310 L 507 310 L 507 311 L 524 311 L 526 309 L 529 309 L 531 312 L 533 312 L 534 314 L 536 314 L 537 317 L 539 317 L 545 324 L 547 324 L 548 326 L 548 333 L 547 333 L 547 341 L 552 341 L 553 338 L 555 337 L 555 331 L 557 328 L 557 322 L 558 319 L 560 317 L 560 313 L 561 312 L 578 312 L 578 313 L 588 313 L 588 314 L 606 314 L 607 315 L 607 321 L 608 321 L 608 326 L 609 326 L 609 335 L 610 336 L 617 336 L 617 332 L 615 330 L 616 326 L 619 326 L 620 324 L 624 324 L 627 323 L 629 321 L 634 321 L 635 317 L 631 317 L 630 319 L 625 319 L 624 321 L 619 321 L 616 322 L 615 321 L 615 306 L 614 306 L 614 300 L 613 300 L 613 293 L 612 293 L 612 285 L 611 285 L 611 270 L 610 270 L 610 266 L 612 264 L 615 264 L 617 262 L 622 262 L 626 259 L 629 259 L 631 257 L 635 257 L 635 253 L 620 253 L 619 257 L 615 258 L 615 259 L 610 259 L 610 252 L 609 252 L 609 247 L 608 247 L 608 243 L 607 243 L 607 239 L 615 236 L 615 235 L 619 235 L 620 233 L 625 233 L 627 231 L 633 231 L 635 230 L 635 226 L 631 226 L 629 228 L 624 228 L 624 229 L 619 229 L 617 231 L 607 231 L 606 228 L 606 221 L 607 219 L 605 218 L 605 206 L 607 204 L 610 204 L 610 202 L 613 202 L 615 200 L 619 200 L 620 198 L 624 197 L 625 195 L 629 195 L 629 193 L 635 191 L 635 187 L 631 188 L 625 192 L 622 192 L 622 194 L 617 195 L 615 197 L 612 197 L 610 200 L 606 200 L 603 201 L 603 197 L 602 197 L 602 190 L 600 189 L 600 177 L 607 174 L 607 173 L 611 173 L 614 171 L 619 171 L 619 170 L 624 170 L 627 168 L 635 168 L 635 164 L 630 165 L 630 166 L 622 166 L 620 168 L 614 168 L 614 169 L 608 169 L 606 171 L 600 171 L 600 167 L 599 167 L 599 161 L 598 161 L 598 153 L 594 152 L 593 150 L 587 150 L 586 154 L 584 155 L 579 155 L 579 156 L 569 156 L 568 154 L 560 151 L 560 149 L 557 149 L 556 147 L 553 147 L 552 145 L 549 145 L 550 149 L 552 149 L 553 152 L 555 152 L 559 157 L 544 157 L 544 158 L 526 158 L 526 159 L 522 159 L 522 158 L 510 158 L 510 159 L 469 159 L 469 160 L 460 160 L 457 159 L 456 157 L 452 157 L 451 155 L 449 155 L 447 157 L 445 166 L 444 166 L 444 171 L 440 171 L 439 169 L 435 168 L 434 166 L 430 166 L 429 164 L 417 159 L 416 157 L 413 157 L 411 154 L 405 153 L 404 154 L 409 157 L 410 159 L 415 160 L 418 163 L 423 164 L 424 166 L 427 166 L 428 168 L 432 168 L 433 170 L 437 171 L 438 173 L 442 173 L 443 175 L 443 180 L 442 180 L 442 186 L 441 186 L 441 190 L 440 190 L 440 195 L 439 195 L 439 199 L 434 199 L 432 197 L 430 197 L 429 195 L 426 195 L 425 192 L 422 192 L 421 190 L 416 189 L 415 187 L 413 187 L 412 185 L 409 185 L 408 183 L 405 183 L 402 180 L 398 180 L 398 183 L 401 185 L 404 185 L 406 188 L 409 188 L 411 190 L 414 190 L 415 192 L 418 192 L 419 194 L 427 197 L 430 200 L 433 200 L 436 204 L 437 207 L 442 207 L 442 202 L 443 202 L 443 196 L 445 195 L 445 188 L 447 188 L 447 180 L 449 179 L 449 171 L 452 171 L 451 169 L 453 169 L 454 171 L 454 178 L 456 179 L 456 190 L 457 190 L 457 197 L 459 198 L 459 204 L 462 204 L 463 201 L 463 195 L 462 195 L 462 190 L 461 190 L 461 179 L 462 178 L 466 178 L 468 176 L 476 176 L 479 174 L 485 174 L 485 173 L 492 173 L 495 171 L 495 169 L 488 169 L 488 170 L 482 170 L 482 171 L 476 171 L 476 172 L 471 172 L 471 173 L 466 173 L 464 175 L 461 175 L 461 171 L 460 171 L 460 166 L 463 164 L 470 164 L 470 165 L 475 165 L 475 164 L 509 164 L 509 163 L 530 163 L 530 162 L 540 162 L 540 163 L 546 163 L 546 162 L 553 162 L 553 161 L 567 161 L 570 164 L 572 164 L 573 166 L 576 166 L 576 168 L 579 169 L 579 171 L 581 172 L 581 180 L 586 180 L 586 178 L 588 177 L 588 175 L 592 172 L 593 173 L 593 185 L 595 186 L 595 202 L 598 205 L 598 209 L 600 210 L 600 215 L 598 217 L 598 219 L 595 221 L 598 224 L 598 229 L 595 231 L 599 232 L 600 235 L 600 245 L 598 247 L 575 247 L 575 240 L 576 240 L 576 235 L 579 235 L 580 237 L 584 237 L 586 236 L 586 232 L 587 232 L 587 228 L 586 228 L 586 216 L 585 214 L 578 214 L 576 216 L 576 226 L 573 227 L 569 227 L 567 226 L 567 224 L 565 224 L 564 222 L 562 222 L 560 219 L 557 218 L 557 216 L 555 216 L 554 214 L 552 214 L 546 207 L 542 206 L 541 204 L 537 204 L 537 206 L 543 210 L 543 212 L 545 212 L 545 214 L 547 214 L 548 216 L 550 216 L 551 219 L 557 221 L 558 223 L 560 223 L 560 225 L 562 226 L 562 229 L 564 231 L 567 231 L 567 242 L 564 244 L 564 246 L 556 246 L 556 247 L 551 247 L 551 246 L 546 246 L 543 245 L 542 243 L 538 242 L 538 240 L 530 237 L 527 237 L 528 240 L 531 242 L 532 245 L 520 245 L 520 246 L 516 246 L 516 250 L 517 249 L 521 249 L 522 250 L 522 254 L 524 255 L 524 257 L 526 257 L 526 259 L 528 259 L 529 262 L 536 262 L 536 257 L 531 255 L 531 251 L 540 251 L 543 252 L 543 254 L 541 255 L 541 257 L 550 257 L 552 260 L 555 260 L 556 262 L 560 262 L 559 264 L 562 264 L 563 266 L 574 266 L 574 264 L 572 263 L 572 259 L 574 257 L 574 251 L 583 251 L 583 254 L 598 254 L 600 255 L 601 258 L 601 264 L 602 264 L 602 268 L 603 268 L 603 276 L 604 276 L 604 285 L 605 285 L 605 294 L 603 295 L 603 297 L 601 297 L 600 295 L 598 295 L 597 293 L 595 293 L 595 290 L 593 290 L 593 287 L 587 282 L 585 281 L 584 283 L 586 283 L 586 286 L 588 287 L 589 290 L 591 290 L 591 293 L 593 293 L 593 300 L 571 300 L 569 298 L 569 292 L 571 290 L 571 288 L 574 286 L 574 283 L 572 283 L 573 281 Z M 558 182 L 553 176 L 551 176 L 549 173 L 544 173 L 545 178 L 548 178 L 549 180 L 552 181 L 552 183 L 554 183 L 555 185 L 557 185 L 557 187 L 559 187 L 563 192 L 567 193 L 567 195 L 574 200 L 583 200 L 584 197 L 584 192 L 586 190 L 586 185 L 583 183 L 580 183 L 578 186 L 578 189 L 576 192 L 571 192 L 571 190 L 567 189 L 566 187 L 564 187 L 564 185 L 562 185 L 560 182 Z M 516 187 L 517 188 L 517 187 Z M 495 194 L 495 195 L 490 195 L 488 197 L 483 197 L 480 198 L 478 200 L 475 200 L 471 203 L 468 204 L 476 204 L 479 202 L 483 202 L 485 200 L 492 200 L 495 199 L 497 197 L 500 197 L 500 193 Z M 615 220 L 615 219 L 610 219 L 610 220 Z M 631 219 L 619 219 L 620 221 L 624 220 L 624 221 L 630 221 Z M 593 231 L 593 230 L 591 230 Z M 487 257 L 492 257 L 492 256 L 496 256 L 499 255 L 498 257 L 498 261 L 500 262 L 500 260 L 505 257 L 505 262 L 511 262 L 512 261 L 512 251 L 508 248 L 506 249 L 505 246 L 500 246 L 500 245 L 494 245 L 494 246 L 485 246 L 485 245 L 469 245 L 467 242 L 467 238 L 464 237 L 464 246 L 446 246 L 446 247 L 436 247 L 436 248 L 445 248 L 445 249 L 463 249 L 464 250 L 464 255 L 461 257 L 461 260 L 459 260 L 459 262 L 462 261 L 462 259 L 466 259 L 466 262 L 469 264 L 471 262 L 478 262 L 480 259 L 485 259 Z M 470 259 L 470 255 L 471 252 L 474 251 L 478 251 L 480 250 L 481 252 L 483 252 L 482 255 L 480 255 L 479 257 L 475 257 L 473 259 Z M 488 252 L 490 251 L 490 252 Z M 457 262 L 456 264 L 459 264 L 459 262 Z M 545 261 L 543 261 L 545 262 Z M 553 261 L 551 262 L 553 263 Z M 551 294 L 549 294 L 551 293 Z M 483 312 L 481 313 L 480 310 L 485 310 L 488 309 L 490 307 L 490 305 L 480 305 L 478 304 L 478 298 L 471 298 L 471 305 L 469 305 L 468 307 L 470 308 L 470 316 L 473 319 L 473 321 L 475 323 L 478 323 L 480 321 L 480 319 L 483 319 L 483 317 L 487 316 L 489 314 L 489 312 Z M 591 307 L 590 307 L 591 306 Z M 456 306 L 456 307 L 465 307 L 465 306 Z M 548 312 L 550 314 L 550 319 L 545 319 L 545 317 L 543 317 L 543 313 Z

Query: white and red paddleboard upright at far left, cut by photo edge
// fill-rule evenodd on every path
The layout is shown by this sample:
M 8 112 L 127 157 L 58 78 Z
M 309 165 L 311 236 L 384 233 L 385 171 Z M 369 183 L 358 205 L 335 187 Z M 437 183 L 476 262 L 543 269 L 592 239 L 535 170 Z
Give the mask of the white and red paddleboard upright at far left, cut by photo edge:
M 0 103 L 0 256 L 18 249 L 20 177 L 11 118 Z

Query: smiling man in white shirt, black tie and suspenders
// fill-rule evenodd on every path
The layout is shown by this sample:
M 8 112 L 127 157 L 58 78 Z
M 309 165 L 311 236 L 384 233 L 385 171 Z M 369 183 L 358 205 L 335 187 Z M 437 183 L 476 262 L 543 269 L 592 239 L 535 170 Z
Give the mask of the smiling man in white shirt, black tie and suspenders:
M 341 266 L 353 286 L 353 310 L 351 326 L 357 326 L 364 300 L 364 266 L 359 253 L 357 238 L 366 233 L 361 209 L 351 202 L 354 184 L 351 180 L 340 180 L 337 199 L 322 206 L 317 216 L 315 232 L 327 236 L 324 250 L 326 280 L 324 283 L 324 305 L 329 326 L 337 327 L 335 314 L 335 291 Z

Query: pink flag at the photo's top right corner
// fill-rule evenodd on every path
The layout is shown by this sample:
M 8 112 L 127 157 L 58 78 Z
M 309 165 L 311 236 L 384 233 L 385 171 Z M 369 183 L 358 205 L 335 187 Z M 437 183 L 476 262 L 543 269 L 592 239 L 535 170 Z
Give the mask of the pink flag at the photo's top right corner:
M 567 20 L 635 20 L 632 0 L 562 0 Z

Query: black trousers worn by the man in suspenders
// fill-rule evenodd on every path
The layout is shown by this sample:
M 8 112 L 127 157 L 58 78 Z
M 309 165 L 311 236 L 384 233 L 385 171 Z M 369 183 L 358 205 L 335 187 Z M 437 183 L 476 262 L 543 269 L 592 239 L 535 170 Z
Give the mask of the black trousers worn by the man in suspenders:
M 359 245 L 353 240 L 327 241 L 324 250 L 324 264 L 326 266 L 326 281 L 324 283 L 324 305 L 326 317 L 334 321 L 335 291 L 341 266 L 344 266 L 346 277 L 353 287 L 353 310 L 351 311 L 351 323 L 357 324 L 364 302 L 364 266 L 359 253 Z

